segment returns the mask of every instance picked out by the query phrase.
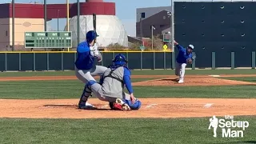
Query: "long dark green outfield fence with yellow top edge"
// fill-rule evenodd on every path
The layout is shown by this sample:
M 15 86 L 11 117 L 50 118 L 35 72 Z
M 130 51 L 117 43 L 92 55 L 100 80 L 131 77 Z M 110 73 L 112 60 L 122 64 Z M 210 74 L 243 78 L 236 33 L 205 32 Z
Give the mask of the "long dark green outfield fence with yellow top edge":
M 128 66 L 132 70 L 156 70 L 156 69 L 174 69 L 175 55 L 173 52 L 161 51 L 103 51 L 102 62 L 98 65 L 109 66 L 115 54 L 125 54 L 128 59 Z M 195 54 L 195 53 L 194 53 Z M 237 61 L 236 54 L 230 52 L 229 61 L 226 66 L 218 66 L 215 52 L 211 52 L 206 58 L 197 54 L 196 61 L 190 67 L 196 68 L 221 68 L 230 67 L 251 67 L 255 68 L 255 52 L 251 52 L 251 61 Z M 249 55 L 248 55 L 249 56 Z M 11 51 L 0 52 L 0 71 L 40 71 L 40 70 L 74 70 L 74 61 L 77 55 L 75 51 Z M 245 55 L 245 57 L 247 57 Z M 237 64 L 238 63 L 238 64 Z

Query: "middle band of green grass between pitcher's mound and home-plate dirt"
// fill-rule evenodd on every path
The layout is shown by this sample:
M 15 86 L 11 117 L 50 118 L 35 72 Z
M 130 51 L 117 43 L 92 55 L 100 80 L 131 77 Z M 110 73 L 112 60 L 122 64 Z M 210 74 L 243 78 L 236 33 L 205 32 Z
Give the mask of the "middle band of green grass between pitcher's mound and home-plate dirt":
M 136 81 L 148 78 L 134 79 Z M 0 82 L 0 98 L 79 98 L 82 82 Z M 255 86 L 134 86 L 137 98 L 256 98 Z

